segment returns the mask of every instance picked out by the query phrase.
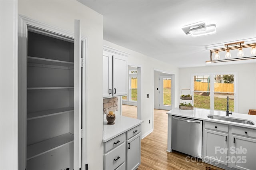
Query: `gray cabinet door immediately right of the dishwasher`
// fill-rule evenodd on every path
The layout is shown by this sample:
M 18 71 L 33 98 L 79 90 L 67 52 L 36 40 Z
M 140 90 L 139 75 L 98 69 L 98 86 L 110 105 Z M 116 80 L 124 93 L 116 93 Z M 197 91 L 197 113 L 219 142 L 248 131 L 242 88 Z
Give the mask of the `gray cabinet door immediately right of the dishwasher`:
M 204 161 L 208 163 L 227 163 L 228 133 L 204 130 Z

